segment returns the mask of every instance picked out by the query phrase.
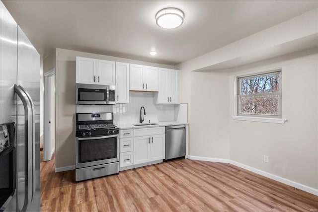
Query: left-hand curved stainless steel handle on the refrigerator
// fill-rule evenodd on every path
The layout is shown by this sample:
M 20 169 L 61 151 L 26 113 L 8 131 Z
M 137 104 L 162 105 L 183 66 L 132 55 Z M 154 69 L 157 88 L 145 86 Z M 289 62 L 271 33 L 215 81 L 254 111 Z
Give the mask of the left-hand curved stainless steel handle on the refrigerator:
M 26 93 L 21 89 L 21 87 L 14 84 L 14 92 L 20 97 L 23 107 L 24 107 L 24 143 L 25 143 L 25 153 L 24 153 L 24 163 L 25 163 L 25 195 L 24 195 L 24 204 L 22 211 L 26 211 L 28 206 L 31 204 L 32 197 L 32 164 L 29 161 L 32 161 L 32 154 L 30 151 L 32 149 L 32 135 L 29 134 L 29 127 L 32 126 L 32 108 L 31 103 L 26 95 Z

